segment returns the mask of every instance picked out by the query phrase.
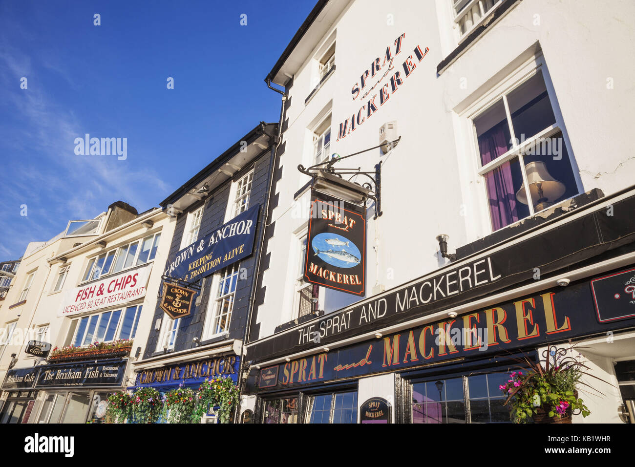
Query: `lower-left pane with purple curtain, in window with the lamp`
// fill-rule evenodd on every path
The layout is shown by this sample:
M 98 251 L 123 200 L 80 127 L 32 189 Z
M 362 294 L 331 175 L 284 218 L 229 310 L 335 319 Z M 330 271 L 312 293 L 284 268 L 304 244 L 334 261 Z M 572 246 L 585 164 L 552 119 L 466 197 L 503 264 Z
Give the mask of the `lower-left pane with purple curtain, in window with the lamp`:
M 518 159 L 505 162 L 486 173 L 485 187 L 493 230 L 513 224 L 529 215 L 529 207 L 516 199 L 519 189 L 523 187 L 523 175 Z

